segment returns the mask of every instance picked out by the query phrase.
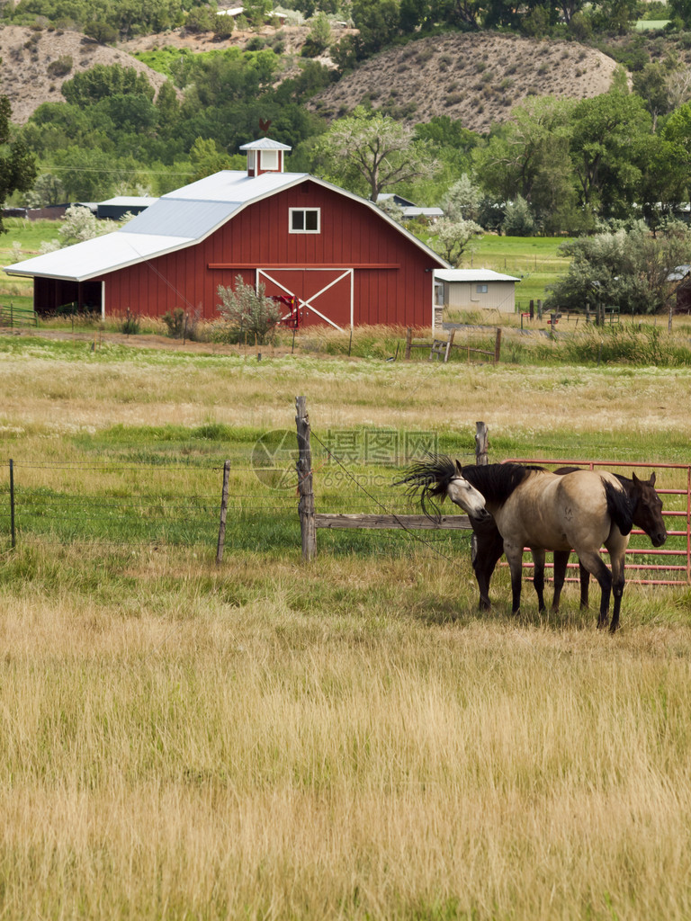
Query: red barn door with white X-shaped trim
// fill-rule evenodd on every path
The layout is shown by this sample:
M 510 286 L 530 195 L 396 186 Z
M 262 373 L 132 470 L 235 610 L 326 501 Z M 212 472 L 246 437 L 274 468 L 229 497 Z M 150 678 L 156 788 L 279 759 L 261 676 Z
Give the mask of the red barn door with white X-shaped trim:
M 295 297 L 300 326 L 328 323 L 337 330 L 353 325 L 353 269 L 257 269 L 266 294 Z

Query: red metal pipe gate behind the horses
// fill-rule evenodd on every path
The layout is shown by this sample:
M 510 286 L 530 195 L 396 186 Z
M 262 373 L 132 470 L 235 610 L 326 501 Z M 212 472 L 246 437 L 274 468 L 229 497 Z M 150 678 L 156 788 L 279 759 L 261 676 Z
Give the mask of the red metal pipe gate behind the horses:
M 509 458 L 504 463 L 530 463 L 546 468 L 582 467 L 584 470 L 607 470 L 611 473 L 642 470 L 646 478 L 655 471 L 655 489 L 662 496 L 662 516 L 667 528 L 664 547 L 651 547 L 647 535 L 638 529 L 631 531 L 627 549 L 627 582 L 640 585 L 691 584 L 691 466 L 675 463 L 631 463 L 625 461 L 554 461 L 545 458 Z M 622 470 L 624 468 L 624 470 Z M 643 474 L 641 474 L 642 476 Z M 526 553 L 528 553 L 526 548 Z M 607 551 L 603 548 L 603 554 Z M 526 569 L 532 560 L 524 560 Z M 570 569 L 578 569 L 578 559 L 572 556 Z M 545 568 L 552 568 L 547 564 Z M 635 575 L 631 576 L 631 573 Z M 569 578 L 568 581 L 576 581 Z

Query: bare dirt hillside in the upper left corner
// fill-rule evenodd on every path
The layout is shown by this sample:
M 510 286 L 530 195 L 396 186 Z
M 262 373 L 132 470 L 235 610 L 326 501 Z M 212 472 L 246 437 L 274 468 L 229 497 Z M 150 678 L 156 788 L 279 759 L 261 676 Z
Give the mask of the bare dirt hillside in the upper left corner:
M 141 64 L 131 54 L 101 45 L 81 32 L 68 29 L 41 29 L 34 31 L 21 26 L 0 29 L 0 95 L 6 96 L 12 106 L 12 121 L 23 124 L 41 102 L 62 102 L 60 93 L 65 80 L 94 64 L 122 64 L 135 67 L 146 74 L 156 87 L 165 83 L 165 77 Z M 60 67 L 60 59 L 72 59 L 67 73 L 51 71 Z M 53 64 L 53 68 L 51 67 Z

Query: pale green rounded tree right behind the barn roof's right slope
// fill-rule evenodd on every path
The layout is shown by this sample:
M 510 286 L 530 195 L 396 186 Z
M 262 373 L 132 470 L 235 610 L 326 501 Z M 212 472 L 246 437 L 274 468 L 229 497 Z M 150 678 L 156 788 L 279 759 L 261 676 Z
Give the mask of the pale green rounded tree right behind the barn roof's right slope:
M 385 189 L 438 169 L 428 146 L 415 142 L 412 128 L 361 106 L 322 134 L 314 157 L 320 175 L 369 194 L 372 202 Z

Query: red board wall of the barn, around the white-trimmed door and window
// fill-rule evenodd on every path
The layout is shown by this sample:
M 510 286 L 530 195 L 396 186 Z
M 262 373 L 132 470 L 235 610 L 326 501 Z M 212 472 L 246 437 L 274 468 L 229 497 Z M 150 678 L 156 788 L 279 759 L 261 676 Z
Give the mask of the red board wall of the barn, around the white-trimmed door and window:
M 288 233 L 291 207 L 320 208 L 321 232 Z M 311 181 L 249 205 L 201 243 L 102 276 L 105 309 L 161 316 L 181 307 L 211 319 L 217 286 L 238 274 L 253 286 L 256 268 L 317 265 L 355 267 L 354 323 L 431 324 L 439 263 L 367 205 Z

